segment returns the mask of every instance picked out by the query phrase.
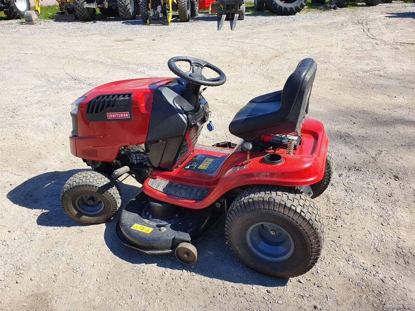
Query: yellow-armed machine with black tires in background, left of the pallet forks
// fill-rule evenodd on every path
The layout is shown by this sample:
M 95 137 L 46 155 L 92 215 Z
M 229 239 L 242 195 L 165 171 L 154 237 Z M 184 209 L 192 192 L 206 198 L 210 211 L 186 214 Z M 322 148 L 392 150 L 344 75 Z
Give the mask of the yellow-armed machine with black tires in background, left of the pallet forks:
M 170 25 L 173 11 L 178 11 L 181 22 L 190 21 L 199 15 L 198 0 L 139 0 L 143 22 Z

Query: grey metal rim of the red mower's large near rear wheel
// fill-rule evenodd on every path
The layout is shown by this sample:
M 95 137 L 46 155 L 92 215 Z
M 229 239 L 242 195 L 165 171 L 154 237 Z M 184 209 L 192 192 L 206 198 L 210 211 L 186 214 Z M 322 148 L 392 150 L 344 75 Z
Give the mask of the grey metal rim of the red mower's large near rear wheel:
M 269 222 L 252 225 L 247 231 L 247 244 L 258 257 L 278 262 L 293 254 L 294 241 L 282 227 Z

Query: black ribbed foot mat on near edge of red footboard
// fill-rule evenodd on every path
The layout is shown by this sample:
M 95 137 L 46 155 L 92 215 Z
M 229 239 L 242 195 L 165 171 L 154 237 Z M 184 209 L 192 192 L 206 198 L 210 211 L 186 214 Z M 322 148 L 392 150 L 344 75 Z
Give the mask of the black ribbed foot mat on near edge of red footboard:
M 209 189 L 206 188 L 181 185 L 176 182 L 168 182 L 167 180 L 160 178 L 150 179 L 147 185 L 165 194 L 195 201 L 203 200 L 209 191 Z

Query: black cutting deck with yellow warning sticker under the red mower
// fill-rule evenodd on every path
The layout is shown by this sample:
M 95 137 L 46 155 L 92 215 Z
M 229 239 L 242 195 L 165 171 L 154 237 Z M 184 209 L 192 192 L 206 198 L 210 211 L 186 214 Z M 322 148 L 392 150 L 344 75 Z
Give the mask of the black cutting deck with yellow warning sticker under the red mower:
M 144 253 L 173 253 L 178 244 L 194 241 L 220 219 L 225 203 L 218 203 L 205 209 L 171 206 L 167 208 L 171 215 L 157 217 L 153 215 L 157 211 L 151 210 L 149 196 L 140 192 L 123 209 L 117 223 L 117 236 L 122 244 Z M 161 212 L 166 213 L 166 208 Z

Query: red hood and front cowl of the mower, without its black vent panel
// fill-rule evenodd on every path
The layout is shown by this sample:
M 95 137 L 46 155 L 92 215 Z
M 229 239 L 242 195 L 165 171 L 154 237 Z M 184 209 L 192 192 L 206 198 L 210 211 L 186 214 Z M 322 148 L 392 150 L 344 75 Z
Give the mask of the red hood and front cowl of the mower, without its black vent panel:
M 122 146 L 145 143 L 153 107 L 153 92 L 173 78 L 122 80 L 100 85 L 83 96 L 78 109 L 78 136 L 70 136 L 71 153 L 79 158 L 111 162 Z M 86 122 L 87 102 L 98 95 L 133 93 L 130 121 Z

